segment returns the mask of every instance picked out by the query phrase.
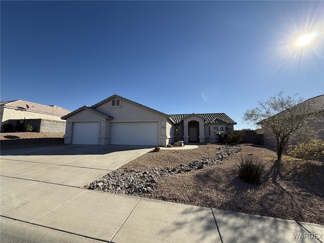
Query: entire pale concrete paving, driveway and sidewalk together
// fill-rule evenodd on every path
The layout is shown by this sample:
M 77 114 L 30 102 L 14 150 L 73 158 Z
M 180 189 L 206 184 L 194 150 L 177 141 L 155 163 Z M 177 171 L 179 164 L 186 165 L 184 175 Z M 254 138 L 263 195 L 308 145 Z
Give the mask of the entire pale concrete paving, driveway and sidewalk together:
M 144 150 L 45 155 L 50 150 L 2 156 L 2 243 L 324 243 L 322 225 L 79 188 Z

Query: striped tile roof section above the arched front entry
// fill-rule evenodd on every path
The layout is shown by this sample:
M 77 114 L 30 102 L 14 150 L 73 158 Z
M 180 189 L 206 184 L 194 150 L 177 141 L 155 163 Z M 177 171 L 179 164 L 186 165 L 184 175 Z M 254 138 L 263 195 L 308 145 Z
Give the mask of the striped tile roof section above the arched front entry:
M 170 115 L 176 124 L 181 124 L 182 120 L 192 114 L 175 114 Z M 204 113 L 195 114 L 205 118 L 204 124 L 236 124 L 234 120 L 228 117 L 225 113 Z

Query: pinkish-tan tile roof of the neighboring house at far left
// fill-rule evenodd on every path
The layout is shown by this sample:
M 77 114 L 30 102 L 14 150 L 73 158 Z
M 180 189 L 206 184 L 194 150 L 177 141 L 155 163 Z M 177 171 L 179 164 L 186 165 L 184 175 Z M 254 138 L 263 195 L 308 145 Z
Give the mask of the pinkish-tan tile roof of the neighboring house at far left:
M 60 116 L 66 115 L 71 112 L 57 105 L 42 105 L 24 100 L 1 102 L 0 106 Z

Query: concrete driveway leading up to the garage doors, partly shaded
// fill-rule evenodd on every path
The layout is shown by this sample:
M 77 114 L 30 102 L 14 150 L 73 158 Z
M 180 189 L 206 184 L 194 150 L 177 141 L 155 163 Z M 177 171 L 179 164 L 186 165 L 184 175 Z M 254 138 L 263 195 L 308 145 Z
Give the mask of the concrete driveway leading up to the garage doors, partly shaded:
M 62 145 L 1 152 L 2 184 L 19 178 L 83 187 L 87 183 L 150 151 L 151 147 Z

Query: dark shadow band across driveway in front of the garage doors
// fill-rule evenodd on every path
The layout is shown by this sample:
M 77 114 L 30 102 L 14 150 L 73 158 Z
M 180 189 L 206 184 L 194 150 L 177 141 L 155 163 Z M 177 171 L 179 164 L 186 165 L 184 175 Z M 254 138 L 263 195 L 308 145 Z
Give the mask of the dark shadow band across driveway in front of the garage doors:
M 1 151 L 1 155 L 86 155 L 107 154 L 116 151 L 128 151 L 153 146 L 142 145 L 60 145 L 38 148 L 22 148 Z

